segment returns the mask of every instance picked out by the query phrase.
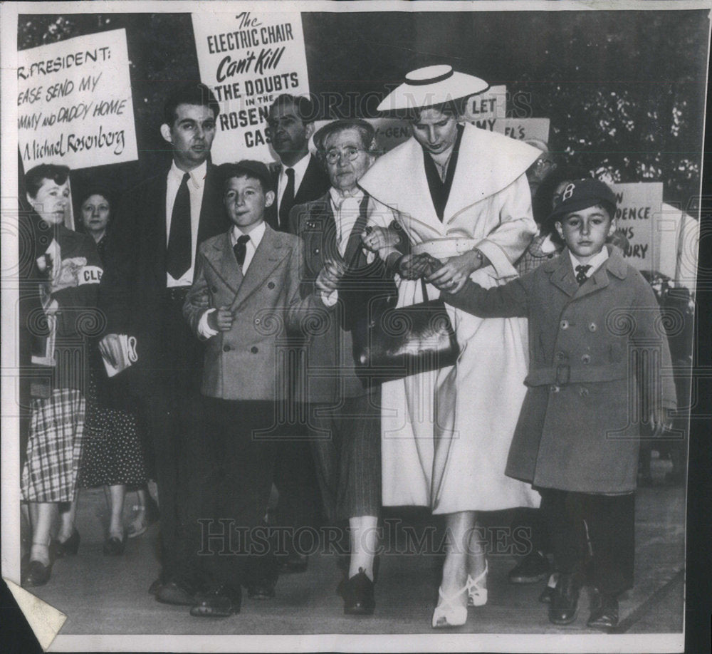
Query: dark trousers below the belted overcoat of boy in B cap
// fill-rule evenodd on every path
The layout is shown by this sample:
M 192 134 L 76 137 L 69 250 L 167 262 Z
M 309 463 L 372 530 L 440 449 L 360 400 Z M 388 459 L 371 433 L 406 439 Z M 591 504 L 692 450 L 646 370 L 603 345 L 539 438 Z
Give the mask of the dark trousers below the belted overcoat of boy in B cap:
M 587 578 L 601 593 L 617 596 L 633 586 L 635 495 L 600 495 L 540 489 L 554 564 Z

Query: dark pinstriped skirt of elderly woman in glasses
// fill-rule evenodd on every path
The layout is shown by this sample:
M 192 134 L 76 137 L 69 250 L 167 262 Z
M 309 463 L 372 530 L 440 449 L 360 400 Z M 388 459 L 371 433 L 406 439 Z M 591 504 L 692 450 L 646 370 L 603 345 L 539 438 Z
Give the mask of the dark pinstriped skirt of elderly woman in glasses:
M 309 405 L 310 443 L 332 522 L 381 512 L 380 388 L 333 405 Z

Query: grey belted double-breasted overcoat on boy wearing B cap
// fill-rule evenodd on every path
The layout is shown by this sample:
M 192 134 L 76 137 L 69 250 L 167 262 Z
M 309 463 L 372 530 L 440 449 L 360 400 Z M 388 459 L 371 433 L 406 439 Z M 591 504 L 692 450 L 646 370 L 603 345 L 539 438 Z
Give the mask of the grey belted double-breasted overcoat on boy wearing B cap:
M 616 248 L 579 286 L 568 250 L 505 286 L 468 284 L 446 302 L 529 318 L 527 395 L 506 473 L 535 487 L 635 489 L 639 426 L 674 408 L 667 337 L 649 284 Z

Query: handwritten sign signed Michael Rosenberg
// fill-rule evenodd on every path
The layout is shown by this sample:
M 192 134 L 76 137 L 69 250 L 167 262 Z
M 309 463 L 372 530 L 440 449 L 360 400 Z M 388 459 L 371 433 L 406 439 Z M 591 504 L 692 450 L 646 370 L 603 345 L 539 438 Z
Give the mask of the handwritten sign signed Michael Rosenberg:
M 124 29 L 20 51 L 17 78 L 25 170 L 138 158 Z

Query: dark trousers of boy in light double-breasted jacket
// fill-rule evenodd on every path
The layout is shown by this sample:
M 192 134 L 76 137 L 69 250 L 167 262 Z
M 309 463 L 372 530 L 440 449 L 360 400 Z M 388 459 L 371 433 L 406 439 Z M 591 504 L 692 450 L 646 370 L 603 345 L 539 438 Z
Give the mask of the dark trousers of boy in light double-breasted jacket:
M 215 586 L 276 579 L 275 540 L 264 523 L 272 486 L 275 403 L 203 398 L 207 465 L 194 471 L 201 497 L 199 555 Z

